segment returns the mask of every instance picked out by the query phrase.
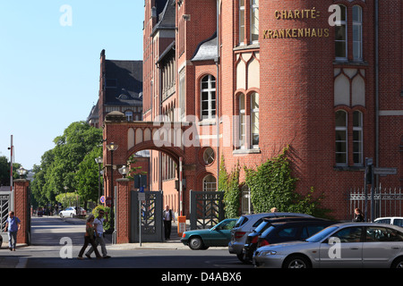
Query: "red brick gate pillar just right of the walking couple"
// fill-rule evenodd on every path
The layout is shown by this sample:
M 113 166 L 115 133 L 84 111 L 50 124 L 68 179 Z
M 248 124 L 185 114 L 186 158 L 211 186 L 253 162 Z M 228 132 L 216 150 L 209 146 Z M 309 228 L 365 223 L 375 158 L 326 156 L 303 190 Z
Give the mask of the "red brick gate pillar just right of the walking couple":
M 116 180 L 116 244 L 130 242 L 130 180 Z

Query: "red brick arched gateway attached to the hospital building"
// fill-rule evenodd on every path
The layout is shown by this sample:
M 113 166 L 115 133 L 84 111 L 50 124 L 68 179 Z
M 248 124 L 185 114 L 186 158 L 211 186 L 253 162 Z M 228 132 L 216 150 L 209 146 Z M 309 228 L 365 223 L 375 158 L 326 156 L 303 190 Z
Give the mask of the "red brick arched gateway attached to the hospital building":
M 103 126 L 103 164 L 106 167 L 106 172 L 104 172 L 105 195 L 112 196 L 111 164 L 114 165 L 113 185 L 116 186 L 116 180 L 122 178 L 118 169 L 122 165 L 126 165 L 132 155 L 141 150 L 157 150 L 174 160 L 178 166 L 177 178 L 180 178 L 181 174 L 183 175 L 185 186 L 183 186 L 182 196 L 178 198 L 182 198 L 181 213 L 188 215 L 189 195 L 187 190 L 200 189 L 195 178 L 200 176 L 196 156 L 201 147 L 193 146 L 192 142 L 186 145 L 186 139 L 184 139 L 189 136 L 190 133 L 186 130 L 191 127 L 190 122 L 128 122 L 122 113 L 107 114 Z M 193 139 L 192 135 L 190 135 L 190 139 Z M 107 144 L 112 142 L 118 146 L 113 153 L 107 149 Z M 133 186 L 131 188 L 133 189 Z M 176 189 L 169 191 L 176 191 Z

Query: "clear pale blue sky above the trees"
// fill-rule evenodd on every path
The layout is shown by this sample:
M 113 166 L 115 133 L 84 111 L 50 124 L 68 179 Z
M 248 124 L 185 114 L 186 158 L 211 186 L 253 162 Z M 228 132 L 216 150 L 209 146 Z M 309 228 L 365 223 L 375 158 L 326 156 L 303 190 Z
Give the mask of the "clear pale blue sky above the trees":
M 25 169 L 86 120 L 99 94 L 99 55 L 142 60 L 142 0 L 0 2 L 0 156 Z

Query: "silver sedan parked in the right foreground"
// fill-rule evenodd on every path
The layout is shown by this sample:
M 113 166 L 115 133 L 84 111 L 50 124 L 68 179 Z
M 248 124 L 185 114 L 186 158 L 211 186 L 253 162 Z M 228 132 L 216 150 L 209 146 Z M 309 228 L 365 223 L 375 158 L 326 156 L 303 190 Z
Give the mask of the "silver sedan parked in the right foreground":
M 338 223 L 305 241 L 256 249 L 256 267 L 403 268 L 403 228 L 381 223 Z

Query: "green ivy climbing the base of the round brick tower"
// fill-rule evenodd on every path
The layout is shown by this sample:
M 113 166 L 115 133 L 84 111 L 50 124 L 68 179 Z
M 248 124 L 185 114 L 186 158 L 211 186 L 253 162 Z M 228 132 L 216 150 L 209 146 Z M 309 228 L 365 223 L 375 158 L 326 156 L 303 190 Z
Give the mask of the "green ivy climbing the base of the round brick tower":
M 288 147 L 285 147 L 278 156 L 268 159 L 256 169 L 244 167 L 245 183 L 251 190 L 254 212 L 267 213 L 270 212 L 270 208 L 277 207 L 279 212 L 328 216 L 330 211 L 320 206 L 322 195 L 313 198 L 313 188 L 307 195 L 296 192 L 297 179 L 292 176 L 287 151 Z M 225 191 L 224 205 L 227 218 L 240 215 L 239 172 L 240 166 L 236 164 L 235 169 L 227 173 L 224 159 L 221 158 L 219 190 Z

